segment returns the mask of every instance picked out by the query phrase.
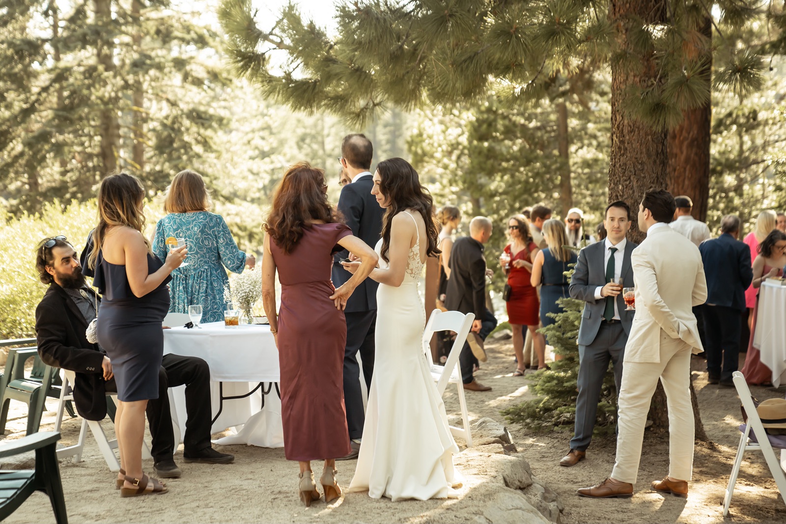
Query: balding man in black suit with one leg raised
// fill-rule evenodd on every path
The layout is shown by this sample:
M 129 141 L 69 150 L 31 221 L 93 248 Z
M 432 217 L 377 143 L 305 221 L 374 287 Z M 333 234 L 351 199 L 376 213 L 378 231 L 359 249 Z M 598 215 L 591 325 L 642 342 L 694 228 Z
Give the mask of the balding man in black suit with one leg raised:
M 450 250 L 450 279 L 445 291 L 445 307 L 461 313 L 475 313 L 470 336 L 479 337 L 481 343 L 497 326 L 497 319 L 486 308 L 486 258 L 483 258 L 483 244 L 491 237 L 491 221 L 486 217 L 472 218 L 469 222 L 469 235 L 457 239 Z M 470 391 L 490 391 L 474 376 L 472 366 L 476 357 L 485 360 L 483 347 L 465 343 L 461 349 L 461 382 Z M 473 349 L 480 355 L 473 354 Z

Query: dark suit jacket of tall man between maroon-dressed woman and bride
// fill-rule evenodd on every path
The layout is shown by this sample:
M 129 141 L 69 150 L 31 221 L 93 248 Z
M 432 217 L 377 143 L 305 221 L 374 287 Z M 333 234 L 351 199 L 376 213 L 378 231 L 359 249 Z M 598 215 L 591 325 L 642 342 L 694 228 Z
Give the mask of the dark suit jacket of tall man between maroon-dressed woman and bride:
M 372 175 L 366 174 L 358 178 L 358 181 L 343 186 L 338 203 L 339 211 L 352 229 L 352 234 L 372 248 L 380 240 L 382 214 L 384 213 L 380 204 L 376 202 L 376 197 L 371 194 L 373 187 Z M 349 252 L 346 249 L 333 256 L 332 280 L 336 288 L 352 276 L 347 269 L 343 269 L 340 263 L 347 256 L 349 256 Z M 379 284 L 375 280 L 370 278 L 363 280 L 347 300 L 347 308 L 344 311 L 354 313 L 376 310 L 376 288 L 378 287 Z

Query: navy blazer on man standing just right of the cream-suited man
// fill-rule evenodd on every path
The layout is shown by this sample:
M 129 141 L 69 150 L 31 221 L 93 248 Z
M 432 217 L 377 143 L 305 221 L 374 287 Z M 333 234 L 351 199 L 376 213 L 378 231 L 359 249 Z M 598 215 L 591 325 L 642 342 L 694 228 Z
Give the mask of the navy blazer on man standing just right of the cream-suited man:
M 699 245 L 707 277 L 707 304 L 745 310 L 745 290 L 751 286 L 751 249 L 729 233 Z

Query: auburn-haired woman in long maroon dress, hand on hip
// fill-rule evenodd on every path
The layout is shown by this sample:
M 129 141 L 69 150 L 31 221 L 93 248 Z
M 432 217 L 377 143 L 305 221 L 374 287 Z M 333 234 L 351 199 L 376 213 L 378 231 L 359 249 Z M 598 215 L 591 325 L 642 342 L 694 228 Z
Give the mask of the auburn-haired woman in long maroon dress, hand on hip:
M 265 224 L 263 306 L 276 338 L 281 368 L 284 453 L 300 463 L 299 497 L 310 506 L 320 495 L 311 460 L 325 460 L 325 502 L 341 496 L 336 457 L 350 453 L 343 403 L 343 357 L 347 324 L 343 309 L 354 288 L 369 276 L 377 256 L 340 222 L 328 202 L 324 172 L 298 163 L 289 168 L 273 197 Z M 361 260 L 340 288 L 330 280 L 336 244 Z M 276 271 L 281 309 L 276 313 Z

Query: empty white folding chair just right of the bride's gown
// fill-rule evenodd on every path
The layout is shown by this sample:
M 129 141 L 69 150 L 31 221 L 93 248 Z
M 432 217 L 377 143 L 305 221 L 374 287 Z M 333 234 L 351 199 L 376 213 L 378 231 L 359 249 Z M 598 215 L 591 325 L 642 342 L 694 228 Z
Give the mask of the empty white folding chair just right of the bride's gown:
M 454 437 L 464 438 L 467 447 L 472 446 L 472 433 L 469 430 L 469 414 L 467 412 L 467 401 L 464 397 L 464 383 L 461 380 L 461 369 L 458 365 L 458 357 L 461 355 L 461 348 L 467 340 L 469 330 L 472 329 L 472 321 L 475 320 L 475 313 L 459 313 L 458 311 L 432 311 L 432 316 L 428 317 L 428 324 L 423 332 L 423 352 L 428 361 L 432 378 L 437 383 L 437 391 L 440 395 L 445 393 L 448 383 L 456 384 L 458 388 L 458 404 L 461 406 L 461 420 L 464 428 L 450 426 L 450 433 Z M 456 332 L 456 340 L 450 348 L 450 354 L 445 361 L 445 365 L 432 363 L 432 352 L 430 344 L 435 332 L 452 331 Z

